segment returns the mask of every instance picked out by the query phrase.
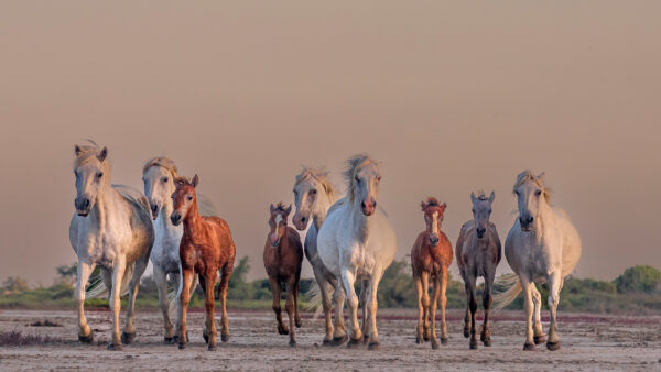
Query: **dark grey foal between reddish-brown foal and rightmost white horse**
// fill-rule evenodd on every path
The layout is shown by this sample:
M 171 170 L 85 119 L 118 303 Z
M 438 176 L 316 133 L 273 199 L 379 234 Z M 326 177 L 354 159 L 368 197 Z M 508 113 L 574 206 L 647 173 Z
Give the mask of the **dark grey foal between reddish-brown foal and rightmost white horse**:
M 491 346 L 489 332 L 489 309 L 491 307 L 491 287 L 496 276 L 496 266 L 500 262 L 500 239 L 496 231 L 496 225 L 489 222 L 491 216 L 491 203 L 496 195 L 487 198 L 485 193 L 475 196 L 470 193 L 473 201 L 473 220 L 464 223 L 459 238 L 457 239 L 456 256 L 457 265 L 462 272 L 462 278 L 466 287 L 466 316 L 464 317 L 464 337 L 470 336 L 470 349 L 477 349 L 475 313 L 477 300 L 475 299 L 475 281 L 478 276 L 485 278 L 485 291 L 483 293 L 483 306 L 485 307 L 485 322 L 480 340 L 486 347 Z

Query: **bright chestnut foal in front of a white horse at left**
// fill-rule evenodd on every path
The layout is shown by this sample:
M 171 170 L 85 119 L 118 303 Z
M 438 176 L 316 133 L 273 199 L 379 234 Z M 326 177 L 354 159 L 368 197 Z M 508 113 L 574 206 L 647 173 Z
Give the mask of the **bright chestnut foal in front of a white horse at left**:
M 182 314 L 178 329 L 178 347 L 184 349 L 188 342 L 186 331 L 186 309 L 191 300 L 191 283 L 195 274 L 199 277 L 199 286 L 205 294 L 206 327 L 203 332 L 208 350 L 216 350 L 216 324 L 214 321 L 214 285 L 218 277 L 218 270 L 223 270 L 223 277 L 218 286 L 218 298 L 223 306 L 220 338 L 223 342 L 229 339 L 227 321 L 227 283 L 234 270 L 235 243 L 227 222 L 215 216 L 199 216 L 195 187 L 199 178 L 193 180 L 178 177 L 175 180 L 176 190 L 172 195 L 174 210 L 170 219 L 174 226 L 184 222 L 184 234 L 180 243 L 180 259 L 182 261 L 182 281 L 180 286 L 180 302 Z

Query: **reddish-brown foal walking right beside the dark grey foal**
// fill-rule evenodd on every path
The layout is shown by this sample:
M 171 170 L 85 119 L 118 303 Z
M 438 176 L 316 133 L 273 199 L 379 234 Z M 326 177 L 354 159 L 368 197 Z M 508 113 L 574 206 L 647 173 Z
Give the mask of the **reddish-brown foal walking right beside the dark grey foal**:
M 436 198 L 430 197 L 427 201 L 422 201 L 422 211 L 426 230 L 421 232 L 411 250 L 411 267 L 413 269 L 413 278 L 418 289 L 418 337 L 416 343 L 432 340 L 432 349 L 438 349 L 436 340 L 436 306 L 441 299 L 441 342 L 447 343 L 447 325 L 445 324 L 445 288 L 447 287 L 447 267 L 452 263 L 452 243 L 441 231 L 443 222 L 443 212 L 447 206 L 445 203 L 438 205 Z M 431 303 L 429 284 L 432 280 L 434 296 Z M 431 319 L 431 336 L 427 327 L 427 319 Z

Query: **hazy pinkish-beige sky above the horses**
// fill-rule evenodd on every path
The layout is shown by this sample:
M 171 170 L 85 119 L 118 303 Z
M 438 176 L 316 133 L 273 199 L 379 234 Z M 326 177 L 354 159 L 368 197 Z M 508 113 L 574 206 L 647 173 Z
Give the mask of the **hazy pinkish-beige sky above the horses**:
M 505 240 L 531 168 L 577 226 L 578 276 L 660 267 L 659 14 L 606 0 L 2 1 L 0 280 L 50 284 L 76 260 L 83 139 L 108 146 L 115 183 L 142 189 L 156 155 L 199 174 L 252 277 L 269 204 L 293 201 L 301 165 L 344 193 L 358 152 L 383 162 L 400 258 L 429 195 L 447 201 L 454 243 L 470 190 L 494 189 Z

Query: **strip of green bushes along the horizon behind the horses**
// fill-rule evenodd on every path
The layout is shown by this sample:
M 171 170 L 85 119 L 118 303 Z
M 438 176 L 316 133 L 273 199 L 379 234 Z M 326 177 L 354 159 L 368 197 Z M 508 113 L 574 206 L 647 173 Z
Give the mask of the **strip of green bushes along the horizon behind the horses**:
M 414 308 L 418 306 L 410 267 L 408 260 L 395 261 L 388 267 L 379 285 L 379 307 Z M 229 281 L 227 306 L 242 309 L 270 309 L 269 281 L 263 278 L 249 282 L 246 278 L 249 271 L 248 258 L 240 259 Z M 59 266 L 56 269 L 56 273 L 57 278 L 48 287 L 31 288 L 23 278 L 7 278 L 0 287 L 0 308 L 74 308 L 73 286 L 76 265 Z M 301 280 L 300 304 L 302 308 L 307 307 L 308 298 L 305 294 L 312 287 L 313 282 L 311 278 Z M 170 286 L 174 287 L 174 283 L 170 283 Z M 543 298 L 546 298 L 545 285 L 539 287 Z M 359 289 L 357 287 L 357 291 Z M 466 296 L 463 282 L 451 277 L 446 295 L 448 308 L 465 308 Z M 481 286 L 478 287 L 478 295 L 481 295 Z M 281 299 L 284 298 L 285 294 L 283 293 Z M 108 302 L 94 298 L 87 299 L 86 305 L 107 307 Z M 156 285 L 151 276 L 144 276 L 138 296 L 138 307 L 155 309 L 158 306 Z M 204 307 L 199 287 L 193 295 L 191 306 Z M 546 307 L 545 300 L 543 306 Z M 522 308 L 521 295 L 508 306 L 508 309 Z M 560 309 L 564 311 L 655 314 L 659 308 L 661 308 L 661 272 L 646 265 L 629 267 L 611 282 L 568 277 L 565 280 L 560 302 Z

